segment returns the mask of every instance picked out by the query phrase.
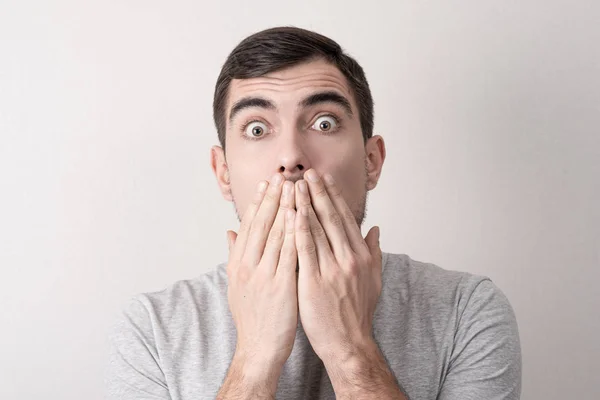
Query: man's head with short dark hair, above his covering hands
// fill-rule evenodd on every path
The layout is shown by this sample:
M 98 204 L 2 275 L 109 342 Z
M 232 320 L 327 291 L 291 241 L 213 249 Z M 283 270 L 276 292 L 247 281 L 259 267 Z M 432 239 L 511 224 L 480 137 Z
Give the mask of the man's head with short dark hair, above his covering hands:
M 333 40 L 290 27 L 244 39 L 217 79 L 213 116 L 211 165 L 239 219 L 260 180 L 295 182 L 314 168 L 333 175 L 362 224 L 385 145 L 364 72 Z

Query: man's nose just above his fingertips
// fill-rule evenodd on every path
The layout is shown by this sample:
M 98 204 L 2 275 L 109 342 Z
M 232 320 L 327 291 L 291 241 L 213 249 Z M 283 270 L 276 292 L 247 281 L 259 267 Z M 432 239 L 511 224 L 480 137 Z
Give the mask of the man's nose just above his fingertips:
M 295 182 L 302 179 L 304 172 L 311 168 L 302 137 L 297 133 L 290 132 L 282 135 L 280 140 L 281 144 L 276 158 L 277 172 L 283 174 L 286 180 Z

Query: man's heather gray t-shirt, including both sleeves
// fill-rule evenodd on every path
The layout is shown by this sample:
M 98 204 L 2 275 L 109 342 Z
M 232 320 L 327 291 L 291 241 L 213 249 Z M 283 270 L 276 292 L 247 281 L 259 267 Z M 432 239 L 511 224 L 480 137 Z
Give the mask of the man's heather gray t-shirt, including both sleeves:
M 110 335 L 109 399 L 214 399 L 236 329 L 225 264 L 134 298 Z M 411 400 L 519 399 L 521 348 L 504 294 L 487 278 L 383 253 L 373 337 Z M 334 399 L 301 323 L 278 399 Z

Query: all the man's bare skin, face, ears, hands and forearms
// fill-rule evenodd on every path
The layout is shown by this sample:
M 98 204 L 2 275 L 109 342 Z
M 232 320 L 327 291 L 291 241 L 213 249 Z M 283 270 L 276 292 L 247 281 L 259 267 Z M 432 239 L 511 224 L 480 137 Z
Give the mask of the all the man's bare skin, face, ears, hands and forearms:
M 301 106 L 322 92 L 347 99 L 349 109 Z M 230 118 L 248 98 L 262 106 Z M 239 233 L 228 231 L 227 264 L 238 343 L 217 398 L 274 398 L 300 318 L 337 398 L 404 399 L 371 336 L 379 228 L 365 238 L 360 231 L 383 138 L 363 142 L 346 79 L 322 60 L 234 80 L 227 109 L 227 157 L 215 146 L 211 165 L 241 221 Z

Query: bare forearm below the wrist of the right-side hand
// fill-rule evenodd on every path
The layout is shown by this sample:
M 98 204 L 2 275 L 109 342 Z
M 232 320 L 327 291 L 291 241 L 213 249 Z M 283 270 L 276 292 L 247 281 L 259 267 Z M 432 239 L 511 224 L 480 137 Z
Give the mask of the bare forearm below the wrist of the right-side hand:
M 325 366 L 337 399 L 408 400 L 375 342 Z

